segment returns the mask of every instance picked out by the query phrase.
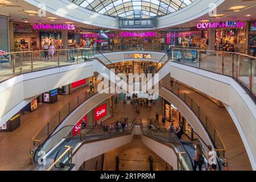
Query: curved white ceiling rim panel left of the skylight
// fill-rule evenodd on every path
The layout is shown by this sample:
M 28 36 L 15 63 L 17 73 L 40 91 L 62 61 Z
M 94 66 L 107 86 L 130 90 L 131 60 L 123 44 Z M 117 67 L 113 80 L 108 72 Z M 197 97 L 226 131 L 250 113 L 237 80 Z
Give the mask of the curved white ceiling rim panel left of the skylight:
M 46 11 L 69 20 L 92 26 L 105 28 L 119 28 L 119 20 L 110 16 L 102 15 L 94 11 L 87 10 L 67 0 L 24 0 L 31 5 L 40 7 L 44 3 Z

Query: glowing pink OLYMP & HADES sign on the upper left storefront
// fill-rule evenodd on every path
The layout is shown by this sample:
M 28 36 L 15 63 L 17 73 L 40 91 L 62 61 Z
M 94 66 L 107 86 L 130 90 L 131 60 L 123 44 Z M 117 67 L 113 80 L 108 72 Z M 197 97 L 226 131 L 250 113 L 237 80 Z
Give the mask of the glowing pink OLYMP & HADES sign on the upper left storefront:
M 75 24 L 33 24 L 34 30 L 75 30 Z

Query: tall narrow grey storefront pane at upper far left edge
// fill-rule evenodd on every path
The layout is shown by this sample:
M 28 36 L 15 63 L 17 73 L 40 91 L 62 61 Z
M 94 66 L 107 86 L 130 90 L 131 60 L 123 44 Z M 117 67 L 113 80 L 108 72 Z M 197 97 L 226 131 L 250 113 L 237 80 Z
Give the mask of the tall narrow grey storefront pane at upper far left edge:
M 8 19 L 0 15 L 0 51 L 9 52 Z

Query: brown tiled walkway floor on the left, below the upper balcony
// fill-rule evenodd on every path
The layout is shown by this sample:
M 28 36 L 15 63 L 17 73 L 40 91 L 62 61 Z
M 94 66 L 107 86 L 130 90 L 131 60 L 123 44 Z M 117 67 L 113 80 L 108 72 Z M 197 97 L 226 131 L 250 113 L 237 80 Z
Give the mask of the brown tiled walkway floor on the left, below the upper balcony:
M 79 96 L 88 87 L 75 90 L 71 95 L 58 96 L 54 104 L 39 104 L 34 112 L 21 115 L 22 125 L 14 132 L 0 133 L 0 170 L 24 170 L 30 167 L 31 138 L 46 125 L 49 118 L 72 98 Z

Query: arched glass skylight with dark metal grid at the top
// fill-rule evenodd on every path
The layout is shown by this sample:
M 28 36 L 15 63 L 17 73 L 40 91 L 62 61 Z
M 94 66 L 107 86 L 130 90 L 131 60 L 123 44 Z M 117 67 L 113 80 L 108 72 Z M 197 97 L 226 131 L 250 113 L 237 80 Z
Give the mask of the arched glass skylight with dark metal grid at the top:
M 173 13 L 196 0 L 69 0 L 86 9 L 109 16 L 133 18 L 134 13 L 142 18 Z

